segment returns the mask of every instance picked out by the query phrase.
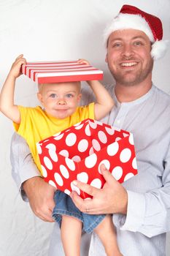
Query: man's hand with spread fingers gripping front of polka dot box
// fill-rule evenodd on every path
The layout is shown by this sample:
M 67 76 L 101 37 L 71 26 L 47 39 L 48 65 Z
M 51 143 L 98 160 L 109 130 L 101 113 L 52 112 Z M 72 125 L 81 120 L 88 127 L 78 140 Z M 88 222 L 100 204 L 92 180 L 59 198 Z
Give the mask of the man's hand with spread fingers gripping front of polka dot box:
M 93 196 L 91 200 L 83 200 L 76 192 L 72 192 L 74 204 L 80 211 L 88 214 L 126 214 L 128 205 L 126 190 L 104 165 L 101 165 L 101 173 L 106 180 L 103 189 L 96 189 L 80 181 L 74 181 L 78 188 Z

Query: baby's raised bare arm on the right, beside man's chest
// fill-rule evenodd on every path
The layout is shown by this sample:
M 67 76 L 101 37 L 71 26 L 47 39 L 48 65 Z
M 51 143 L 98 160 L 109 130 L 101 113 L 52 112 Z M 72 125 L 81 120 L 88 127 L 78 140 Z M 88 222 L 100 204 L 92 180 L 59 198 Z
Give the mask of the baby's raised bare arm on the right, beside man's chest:
M 88 61 L 85 61 L 84 59 L 80 59 L 78 62 L 80 64 L 88 64 Z M 107 89 L 105 89 L 104 86 L 98 80 L 92 80 L 87 82 L 93 90 L 93 93 L 96 97 L 96 103 L 94 105 L 95 119 L 100 120 L 104 116 L 107 116 L 107 113 L 109 113 L 109 111 L 114 106 L 114 101 L 112 97 L 109 95 Z

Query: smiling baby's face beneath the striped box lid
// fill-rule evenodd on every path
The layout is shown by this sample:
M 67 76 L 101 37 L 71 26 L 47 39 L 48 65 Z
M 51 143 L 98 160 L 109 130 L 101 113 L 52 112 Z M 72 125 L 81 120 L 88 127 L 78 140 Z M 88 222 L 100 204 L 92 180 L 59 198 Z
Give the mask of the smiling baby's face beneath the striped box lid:
M 37 94 L 45 112 L 55 118 L 71 116 L 80 102 L 80 82 L 45 83 Z

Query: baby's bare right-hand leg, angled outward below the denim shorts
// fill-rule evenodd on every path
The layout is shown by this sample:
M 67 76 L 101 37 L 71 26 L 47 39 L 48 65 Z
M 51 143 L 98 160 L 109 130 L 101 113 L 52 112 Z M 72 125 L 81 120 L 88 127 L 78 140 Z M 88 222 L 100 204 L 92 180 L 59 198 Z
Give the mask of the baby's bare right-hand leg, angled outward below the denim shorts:
M 94 230 L 104 245 L 107 256 L 120 256 L 120 250 L 117 246 L 115 227 L 112 222 L 112 216 L 107 216 Z

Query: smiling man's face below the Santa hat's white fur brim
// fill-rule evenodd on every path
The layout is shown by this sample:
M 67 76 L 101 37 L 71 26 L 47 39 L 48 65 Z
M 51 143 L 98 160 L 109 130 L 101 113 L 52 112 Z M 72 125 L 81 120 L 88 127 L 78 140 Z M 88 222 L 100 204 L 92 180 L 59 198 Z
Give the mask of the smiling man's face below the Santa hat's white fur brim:
M 150 39 L 144 32 L 125 29 L 109 36 L 106 61 L 116 83 L 135 86 L 151 80 L 153 61 Z

